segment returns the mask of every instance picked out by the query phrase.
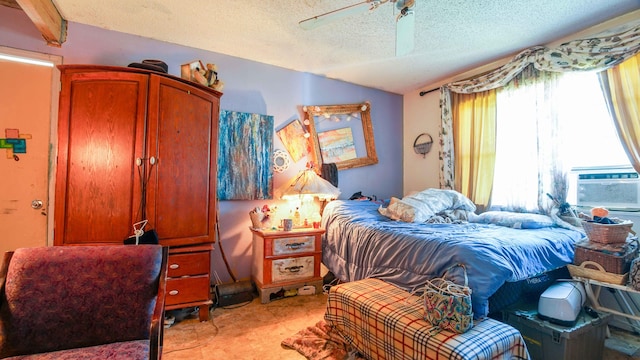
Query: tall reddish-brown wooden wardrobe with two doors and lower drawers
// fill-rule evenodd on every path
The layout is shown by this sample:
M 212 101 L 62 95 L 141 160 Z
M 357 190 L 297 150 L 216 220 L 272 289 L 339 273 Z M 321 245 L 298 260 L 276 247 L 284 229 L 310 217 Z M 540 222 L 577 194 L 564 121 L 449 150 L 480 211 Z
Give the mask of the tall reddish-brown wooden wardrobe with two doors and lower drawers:
M 169 247 L 166 309 L 206 320 L 222 94 L 143 69 L 59 68 L 54 244 L 122 244 L 148 220 Z

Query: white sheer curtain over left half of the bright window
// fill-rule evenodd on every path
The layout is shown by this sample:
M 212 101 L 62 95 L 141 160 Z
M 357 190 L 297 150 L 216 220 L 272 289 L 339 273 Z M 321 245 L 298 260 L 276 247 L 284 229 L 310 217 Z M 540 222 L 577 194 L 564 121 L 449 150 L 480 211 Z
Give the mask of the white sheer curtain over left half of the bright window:
M 503 210 L 546 212 L 566 169 L 558 121 L 560 73 L 528 66 L 498 89 L 495 179 L 491 203 Z M 566 195 L 565 195 L 566 197 Z

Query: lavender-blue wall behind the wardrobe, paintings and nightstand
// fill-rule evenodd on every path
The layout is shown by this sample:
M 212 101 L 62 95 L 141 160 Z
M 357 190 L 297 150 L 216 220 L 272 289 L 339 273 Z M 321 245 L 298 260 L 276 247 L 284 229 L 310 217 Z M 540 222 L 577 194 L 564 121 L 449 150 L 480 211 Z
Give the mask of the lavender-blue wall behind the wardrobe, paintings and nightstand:
M 215 41 L 215 38 L 211 41 Z M 349 198 L 356 191 L 376 195 L 378 198 L 402 196 L 401 95 L 77 23 L 69 24 L 67 41 L 61 48 L 49 47 L 22 11 L 5 6 L 0 6 L 0 46 L 60 55 L 65 64 L 126 66 L 143 59 L 161 59 L 169 65 L 169 73 L 176 76 L 180 75 L 181 64 L 193 60 L 215 63 L 219 78 L 225 82 L 221 108 L 272 115 L 276 130 L 289 121 L 300 118 L 299 108 L 302 105 L 369 101 L 379 163 L 340 171 L 340 197 Z M 274 148 L 284 149 L 277 136 Z M 292 164 L 289 170 L 275 173 L 275 188 L 303 169 L 306 161 L 303 157 Z M 248 213 L 252 208 L 265 203 L 280 202 L 263 200 L 220 203 L 221 244 L 238 278 L 248 278 L 251 273 L 251 233 L 248 230 L 251 222 Z M 218 245 L 213 260 L 214 270 L 224 282 L 228 281 L 229 276 Z

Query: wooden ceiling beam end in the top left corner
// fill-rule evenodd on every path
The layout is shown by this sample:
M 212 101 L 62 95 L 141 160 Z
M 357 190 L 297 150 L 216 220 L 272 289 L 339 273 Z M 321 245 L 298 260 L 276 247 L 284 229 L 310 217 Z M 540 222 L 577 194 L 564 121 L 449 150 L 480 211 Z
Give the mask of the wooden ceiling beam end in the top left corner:
M 67 20 L 52 0 L 16 0 L 49 46 L 60 47 L 67 40 Z

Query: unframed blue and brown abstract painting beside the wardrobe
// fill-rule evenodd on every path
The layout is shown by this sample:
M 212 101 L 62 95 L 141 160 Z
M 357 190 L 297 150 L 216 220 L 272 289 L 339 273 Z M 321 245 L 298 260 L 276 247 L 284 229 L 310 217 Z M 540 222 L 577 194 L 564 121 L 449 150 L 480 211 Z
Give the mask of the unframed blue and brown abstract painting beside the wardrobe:
M 273 116 L 220 110 L 218 199 L 273 198 Z

